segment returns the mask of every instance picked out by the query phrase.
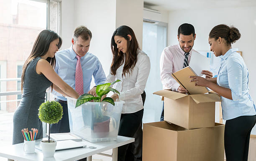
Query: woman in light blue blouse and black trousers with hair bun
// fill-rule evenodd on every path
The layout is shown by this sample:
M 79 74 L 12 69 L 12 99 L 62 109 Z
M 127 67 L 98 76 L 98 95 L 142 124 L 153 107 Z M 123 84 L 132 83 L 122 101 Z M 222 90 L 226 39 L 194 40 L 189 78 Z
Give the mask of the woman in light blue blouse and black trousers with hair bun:
M 217 25 L 210 31 L 210 50 L 220 56 L 217 78 L 190 76 L 196 86 L 205 86 L 221 96 L 225 123 L 225 154 L 227 161 L 247 161 L 250 134 L 256 123 L 256 107 L 249 94 L 248 70 L 243 58 L 231 43 L 241 37 L 237 28 Z

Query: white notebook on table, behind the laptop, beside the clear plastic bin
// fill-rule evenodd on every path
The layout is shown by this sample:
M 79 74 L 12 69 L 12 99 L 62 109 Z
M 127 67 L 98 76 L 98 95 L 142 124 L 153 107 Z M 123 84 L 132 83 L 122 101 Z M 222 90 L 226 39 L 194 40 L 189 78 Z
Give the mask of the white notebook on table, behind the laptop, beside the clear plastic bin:
M 48 136 L 48 133 L 46 133 L 46 136 Z M 79 138 L 73 133 L 51 133 L 50 138 L 56 141 L 61 141 L 61 140 L 82 141 L 82 138 Z

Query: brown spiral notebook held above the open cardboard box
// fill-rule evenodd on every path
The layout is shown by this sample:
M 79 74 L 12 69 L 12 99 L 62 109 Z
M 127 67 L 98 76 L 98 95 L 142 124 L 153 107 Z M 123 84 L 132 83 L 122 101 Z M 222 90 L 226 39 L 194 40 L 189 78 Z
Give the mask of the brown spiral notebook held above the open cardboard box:
M 190 66 L 187 66 L 175 73 L 172 73 L 172 77 L 185 89 L 188 94 L 204 94 L 209 90 L 206 87 L 195 86 L 195 82 L 190 82 L 189 76 L 197 76 L 194 70 Z

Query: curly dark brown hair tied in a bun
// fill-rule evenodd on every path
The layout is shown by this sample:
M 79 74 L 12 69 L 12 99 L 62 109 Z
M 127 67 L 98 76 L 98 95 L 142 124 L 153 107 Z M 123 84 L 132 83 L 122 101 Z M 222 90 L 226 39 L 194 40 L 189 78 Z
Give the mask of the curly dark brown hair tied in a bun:
M 237 28 L 234 26 L 227 26 L 224 24 L 217 25 L 209 33 L 209 38 L 224 38 L 226 40 L 226 45 L 231 45 L 236 42 L 241 37 L 241 34 Z

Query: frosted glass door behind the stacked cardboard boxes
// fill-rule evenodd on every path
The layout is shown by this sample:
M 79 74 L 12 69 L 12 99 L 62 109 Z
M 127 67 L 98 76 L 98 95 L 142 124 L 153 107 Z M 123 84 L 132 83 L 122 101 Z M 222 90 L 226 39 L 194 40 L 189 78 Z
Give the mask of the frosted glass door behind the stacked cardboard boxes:
M 160 121 L 163 102 L 160 96 L 152 93 L 162 90 L 159 62 L 166 44 L 167 23 L 144 21 L 142 50 L 150 58 L 151 69 L 145 88 L 143 123 Z

